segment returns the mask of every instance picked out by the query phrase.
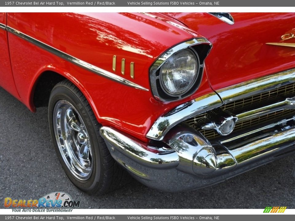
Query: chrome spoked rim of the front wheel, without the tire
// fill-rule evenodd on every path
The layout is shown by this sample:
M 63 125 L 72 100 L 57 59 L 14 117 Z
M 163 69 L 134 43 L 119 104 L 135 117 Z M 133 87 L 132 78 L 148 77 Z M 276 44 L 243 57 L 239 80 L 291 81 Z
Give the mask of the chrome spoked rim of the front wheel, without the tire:
M 79 180 L 88 180 L 93 168 L 92 147 L 85 124 L 71 103 L 59 100 L 55 104 L 53 126 L 65 165 Z

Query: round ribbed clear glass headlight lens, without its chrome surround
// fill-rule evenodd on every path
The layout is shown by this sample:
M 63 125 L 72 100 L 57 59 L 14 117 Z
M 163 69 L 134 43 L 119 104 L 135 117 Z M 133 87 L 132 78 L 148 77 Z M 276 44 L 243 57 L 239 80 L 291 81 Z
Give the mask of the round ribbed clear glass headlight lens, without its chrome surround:
M 198 68 L 198 59 L 190 49 L 175 53 L 160 68 L 163 89 L 170 95 L 187 92 L 197 79 Z

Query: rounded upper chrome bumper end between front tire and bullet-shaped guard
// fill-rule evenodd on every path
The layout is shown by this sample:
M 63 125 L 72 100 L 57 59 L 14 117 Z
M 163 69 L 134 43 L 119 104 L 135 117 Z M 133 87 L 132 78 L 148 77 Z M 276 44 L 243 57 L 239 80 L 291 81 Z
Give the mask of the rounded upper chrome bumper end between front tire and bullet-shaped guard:
M 99 132 L 106 143 L 111 145 L 108 146 L 111 153 L 119 151 L 141 165 L 157 169 L 168 169 L 179 164 L 179 157 L 173 150 L 162 149 L 159 153 L 151 152 L 148 148 L 151 149 L 152 147 L 140 141 L 135 141 L 134 138 L 123 135 L 111 127 L 103 126 Z

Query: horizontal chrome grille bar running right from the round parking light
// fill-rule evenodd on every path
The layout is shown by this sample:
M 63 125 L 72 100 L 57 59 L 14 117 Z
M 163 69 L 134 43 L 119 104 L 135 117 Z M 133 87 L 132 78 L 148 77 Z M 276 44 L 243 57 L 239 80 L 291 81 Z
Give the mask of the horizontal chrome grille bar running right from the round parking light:
M 295 97 L 286 98 L 284 101 L 270 104 L 265 107 L 260 107 L 251 111 L 246 111 L 240 114 L 236 114 L 238 121 L 252 119 L 261 115 L 269 114 L 279 110 L 291 110 L 295 109 Z

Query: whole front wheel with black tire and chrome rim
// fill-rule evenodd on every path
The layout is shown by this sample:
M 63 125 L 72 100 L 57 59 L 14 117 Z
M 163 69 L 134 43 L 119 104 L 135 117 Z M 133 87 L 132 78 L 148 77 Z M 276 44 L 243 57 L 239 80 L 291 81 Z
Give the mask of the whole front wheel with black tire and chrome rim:
M 79 189 L 104 194 L 127 181 L 127 173 L 112 158 L 99 134 L 101 125 L 87 99 L 69 80 L 53 87 L 48 116 L 58 159 Z

